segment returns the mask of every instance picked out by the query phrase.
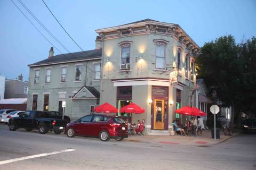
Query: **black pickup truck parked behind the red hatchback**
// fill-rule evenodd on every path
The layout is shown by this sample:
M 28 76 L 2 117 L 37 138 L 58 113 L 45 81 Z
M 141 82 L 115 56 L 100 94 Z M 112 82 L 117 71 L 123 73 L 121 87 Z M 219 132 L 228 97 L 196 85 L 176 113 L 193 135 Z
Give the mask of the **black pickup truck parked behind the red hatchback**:
M 64 116 L 62 120 L 62 116 L 58 112 L 26 111 L 19 117 L 10 118 L 8 125 L 11 131 L 24 128 L 27 131 L 38 129 L 41 134 L 48 131 L 60 134 L 69 122 L 68 116 Z

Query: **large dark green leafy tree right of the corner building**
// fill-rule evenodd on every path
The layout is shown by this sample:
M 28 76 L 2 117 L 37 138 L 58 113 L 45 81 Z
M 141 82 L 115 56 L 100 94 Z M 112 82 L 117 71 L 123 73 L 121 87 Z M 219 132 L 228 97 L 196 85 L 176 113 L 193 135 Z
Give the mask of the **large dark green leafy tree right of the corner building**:
M 198 77 L 204 79 L 208 95 L 214 93 L 227 106 L 231 105 L 231 126 L 242 111 L 255 109 L 255 45 L 254 37 L 236 44 L 234 37 L 224 36 L 205 43 L 196 59 Z

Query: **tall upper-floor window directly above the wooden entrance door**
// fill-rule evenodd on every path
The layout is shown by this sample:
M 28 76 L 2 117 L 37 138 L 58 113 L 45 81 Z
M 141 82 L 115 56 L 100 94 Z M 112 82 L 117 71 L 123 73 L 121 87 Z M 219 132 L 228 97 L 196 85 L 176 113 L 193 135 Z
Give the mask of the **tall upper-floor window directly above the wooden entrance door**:
M 156 69 L 165 69 L 165 43 L 156 43 Z

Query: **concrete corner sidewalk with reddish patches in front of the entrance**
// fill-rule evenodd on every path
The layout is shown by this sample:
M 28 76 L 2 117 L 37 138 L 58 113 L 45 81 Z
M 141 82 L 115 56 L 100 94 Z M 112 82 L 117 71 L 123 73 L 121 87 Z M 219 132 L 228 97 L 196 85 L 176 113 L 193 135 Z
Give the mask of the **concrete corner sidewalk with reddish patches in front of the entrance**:
M 236 135 L 236 134 L 234 134 Z M 233 136 L 234 136 L 233 135 Z M 231 136 L 231 137 L 233 137 Z M 229 136 L 222 135 L 220 132 L 220 139 L 214 140 L 211 138 L 211 131 L 204 130 L 202 136 L 182 136 L 175 134 L 171 135 L 131 135 L 129 138 L 124 139 L 124 141 L 130 142 L 143 142 L 143 143 L 163 143 L 166 145 L 185 145 L 185 146 L 206 146 L 215 145 L 222 141 L 231 138 Z

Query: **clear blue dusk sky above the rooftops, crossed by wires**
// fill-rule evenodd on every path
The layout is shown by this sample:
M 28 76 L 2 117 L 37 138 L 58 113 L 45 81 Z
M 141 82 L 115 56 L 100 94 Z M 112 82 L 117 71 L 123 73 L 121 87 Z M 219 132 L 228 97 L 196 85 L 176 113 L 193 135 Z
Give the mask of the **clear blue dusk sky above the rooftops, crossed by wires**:
M 79 52 L 41 0 L 21 0 L 70 52 Z M 143 19 L 177 23 L 201 47 L 220 36 L 233 35 L 237 43 L 256 35 L 256 1 L 50 1 L 44 0 L 83 50 L 95 48 L 95 29 Z M 13 0 L 62 53 L 68 53 Z M 20 73 L 28 80 L 28 64 L 44 60 L 50 47 L 11 0 L 0 1 L 0 74 L 8 79 Z M 54 55 L 60 54 L 54 49 Z

